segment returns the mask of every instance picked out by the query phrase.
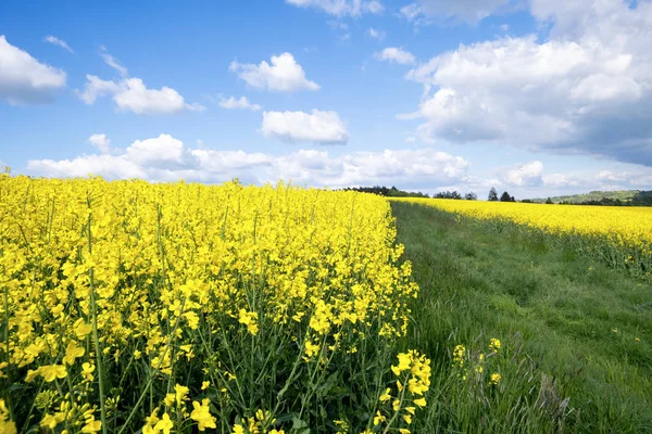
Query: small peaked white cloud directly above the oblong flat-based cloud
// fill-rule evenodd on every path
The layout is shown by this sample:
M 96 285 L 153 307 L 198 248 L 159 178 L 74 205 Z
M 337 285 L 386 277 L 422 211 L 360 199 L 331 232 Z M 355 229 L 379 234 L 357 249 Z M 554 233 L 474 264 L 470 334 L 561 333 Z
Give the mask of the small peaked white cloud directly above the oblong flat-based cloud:
M 253 63 L 231 62 L 229 71 L 238 74 L 249 86 L 281 92 L 298 90 L 318 90 L 319 85 L 305 78 L 301 65 L 290 53 L 272 56 L 272 65 L 262 61 Z

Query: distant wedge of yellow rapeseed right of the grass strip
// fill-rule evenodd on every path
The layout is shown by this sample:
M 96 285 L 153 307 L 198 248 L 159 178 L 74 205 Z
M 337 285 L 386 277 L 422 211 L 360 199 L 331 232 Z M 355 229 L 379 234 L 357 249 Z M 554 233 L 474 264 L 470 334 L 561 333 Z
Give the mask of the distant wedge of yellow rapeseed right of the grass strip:
M 511 202 L 455 201 L 444 199 L 392 199 L 456 213 L 481 220 L 507 219 L 556 235 L 579 235 L 587 248 L 602 252 L 610 260 L 641 267 L 652 265 L 652 207 L 578 206 Z

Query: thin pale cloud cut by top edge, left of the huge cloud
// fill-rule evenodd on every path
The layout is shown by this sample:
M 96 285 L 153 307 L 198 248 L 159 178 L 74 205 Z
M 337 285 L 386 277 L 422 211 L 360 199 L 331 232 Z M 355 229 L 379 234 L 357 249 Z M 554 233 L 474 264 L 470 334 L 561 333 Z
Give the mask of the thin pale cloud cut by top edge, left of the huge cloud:
M 477 24 L 493 12 L 523 3 L 519 0 L 418 0 L 401 8 L 400 15 L 415 24 L 454 20 Z

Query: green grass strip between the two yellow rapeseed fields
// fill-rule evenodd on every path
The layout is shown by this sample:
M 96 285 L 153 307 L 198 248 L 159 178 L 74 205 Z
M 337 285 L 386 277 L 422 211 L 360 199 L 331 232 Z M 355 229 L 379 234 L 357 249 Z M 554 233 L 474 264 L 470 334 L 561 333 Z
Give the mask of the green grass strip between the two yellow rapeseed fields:
M 541 237 L 419 205 L 392 210 L 421 286 L 404 345 L 432 359 L 414 432 L 652 432 L 649 283 Z M 463 380 L 453 347 L 477 359 L 491 337 L 501 352 Z M 487 385 L 490 372 L 499 386 Z

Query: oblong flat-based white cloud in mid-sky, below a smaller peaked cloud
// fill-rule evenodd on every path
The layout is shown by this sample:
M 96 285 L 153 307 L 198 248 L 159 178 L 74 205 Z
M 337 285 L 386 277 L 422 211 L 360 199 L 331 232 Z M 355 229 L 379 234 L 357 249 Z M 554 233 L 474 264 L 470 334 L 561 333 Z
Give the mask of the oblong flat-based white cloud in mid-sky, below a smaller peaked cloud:
M 288 142 L 344 144 L 349 141 L 347 126 L 336 112 L 264 112 L 262 131 Z

